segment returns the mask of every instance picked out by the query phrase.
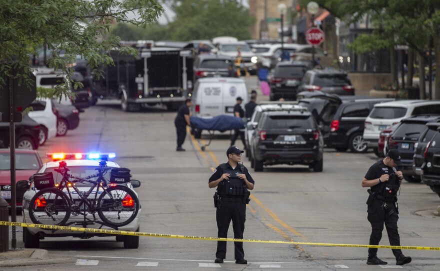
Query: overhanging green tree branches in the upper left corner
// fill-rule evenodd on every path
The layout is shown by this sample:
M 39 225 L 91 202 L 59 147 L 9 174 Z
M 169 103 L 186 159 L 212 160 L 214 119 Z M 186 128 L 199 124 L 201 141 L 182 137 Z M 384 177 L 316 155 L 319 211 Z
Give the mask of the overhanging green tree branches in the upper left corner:
M 14 0 L 0 1 L 0 80 L 10 75 L 11 66 L 29 68 L 29 59 L 46 44 L 51 50 L 48 66 L 62 70 L 67 78 L 69 68 L 78 56 L 87 60 L 94 74 L 100 63 L 113 64 L 105 53 L 119 49 L 136 53 L 119 44 L 119 37 L 109 34 L 114 22 L 145 26 L 163 12 L 157 0 Z M 62 54 L 60 52 L 63 52 Z M 65 53 L 64 53 L 65 52 Z M 26 82 L 26 73 L 17 74 Z M 68 96 L 71 81 L 56 87 L 54 94 Z M 78 84 L 75 83 L 74 87 Z

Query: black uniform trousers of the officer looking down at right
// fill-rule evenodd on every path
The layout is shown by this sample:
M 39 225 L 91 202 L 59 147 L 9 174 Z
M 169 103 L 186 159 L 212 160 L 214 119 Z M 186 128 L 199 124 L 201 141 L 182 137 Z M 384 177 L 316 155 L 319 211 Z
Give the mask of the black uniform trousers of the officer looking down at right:
M 398 214 L 395 211 L 394 203 L 387 203 L 387 207 L 382 208 L 383 201 L 374 199 L 368 206 L 368 221 L 371 223 L 371 235 L 369 244 L 378 245 L 382 238 L 383 224 L 385 224 L 386 233 L 390 245 L 400 245 L 400 236 L 397 230 Z M 391 249 L 395 258 L 402 254 L 401 249 Z M 377 248 L 368 248 L 368 257 L 377 255 Z

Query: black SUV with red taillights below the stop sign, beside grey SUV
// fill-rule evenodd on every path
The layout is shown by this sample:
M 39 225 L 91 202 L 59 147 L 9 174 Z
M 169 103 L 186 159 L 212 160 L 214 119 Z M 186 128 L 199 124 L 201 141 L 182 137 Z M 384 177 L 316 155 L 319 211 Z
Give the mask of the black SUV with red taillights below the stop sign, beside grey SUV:
M 308 62 L 281 61 L 276 63 L 269 81 L 269 99 L 278 100 L 279 98 L 284 98 L 295 100 L 298 85 L 308 69 Z

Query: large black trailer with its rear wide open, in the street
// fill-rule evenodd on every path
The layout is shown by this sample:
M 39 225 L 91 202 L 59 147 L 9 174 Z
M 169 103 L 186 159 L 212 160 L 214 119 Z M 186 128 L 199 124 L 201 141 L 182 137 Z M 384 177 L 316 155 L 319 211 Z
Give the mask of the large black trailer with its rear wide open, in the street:
M 119 98 L 123 111 L 155 104 L 175 110 L 191 95 L 192 44 L 136 48 L 137 56 L 109 52 L 114 66 L 102 68 L 104 76 L 95 82 L 95 92 L 100 98 Z

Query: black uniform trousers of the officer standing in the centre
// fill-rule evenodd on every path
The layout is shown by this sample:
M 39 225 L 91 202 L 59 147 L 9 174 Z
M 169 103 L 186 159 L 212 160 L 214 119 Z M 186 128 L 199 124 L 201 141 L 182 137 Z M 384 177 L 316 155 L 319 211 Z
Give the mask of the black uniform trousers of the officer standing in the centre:
M 232 220 L 232 229 L 234 231 L 234 238 L 243 238 L 244 221 L 246 220 L 246 204 L 242 203 L 241 198 L 238 201 L 231 202 L 226 198 L 221 199 L 220 206 L 216 210 L 216 220 L 218 228 L 218 237 L 227 237 L 227 229 L 229 228 L 230 220 Z M 217 258 L 226 258 L 226 241 L 217 241 Z M 243 242 L 234 242 L 234 257 L 235 259 L 244 258 Z

